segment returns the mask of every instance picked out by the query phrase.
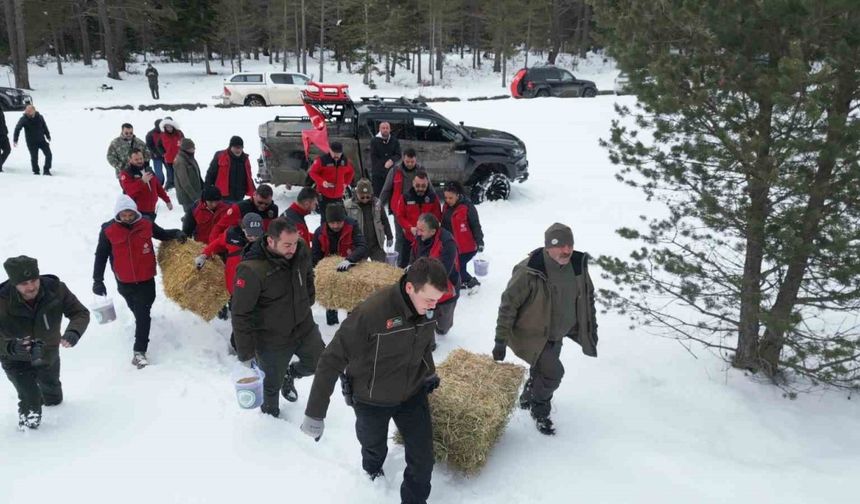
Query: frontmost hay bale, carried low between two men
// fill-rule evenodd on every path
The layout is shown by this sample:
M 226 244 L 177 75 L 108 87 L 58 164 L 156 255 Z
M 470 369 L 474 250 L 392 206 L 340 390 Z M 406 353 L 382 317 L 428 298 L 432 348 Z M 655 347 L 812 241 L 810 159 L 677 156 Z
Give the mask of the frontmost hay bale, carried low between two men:
M 474 476 L 508 424 L 525 368 L 458 348 L 436 373 L 442 380 L 430 394 L 436 461 Z M 396 440 L 402 442 L 399 433 Z

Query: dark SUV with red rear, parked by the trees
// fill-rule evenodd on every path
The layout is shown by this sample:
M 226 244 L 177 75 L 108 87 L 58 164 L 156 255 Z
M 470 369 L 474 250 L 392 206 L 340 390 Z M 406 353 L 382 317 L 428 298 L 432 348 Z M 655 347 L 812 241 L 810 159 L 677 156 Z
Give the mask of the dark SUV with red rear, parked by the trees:
M 578 98 L 597 96 L 597 86 L 592 81 L 577 79 L 564 68 L 554 66 L 520 69 L 511 81 L 514 98 Z

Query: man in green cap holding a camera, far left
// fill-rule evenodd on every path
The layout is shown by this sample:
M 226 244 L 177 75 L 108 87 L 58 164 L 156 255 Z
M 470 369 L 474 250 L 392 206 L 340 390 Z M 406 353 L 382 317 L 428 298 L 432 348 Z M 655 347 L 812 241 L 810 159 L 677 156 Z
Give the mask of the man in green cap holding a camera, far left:
M 9 280 L 0 284 L 0 365 L 18 391 L 18 428 L 36 429 L 42 405 L 63 401 L 59 347 L 77 344 L 90 312 L 53 275 L 39 275 L 27 256 L 3 263 Z M 63 316 L 69 319 L 60 333 Z

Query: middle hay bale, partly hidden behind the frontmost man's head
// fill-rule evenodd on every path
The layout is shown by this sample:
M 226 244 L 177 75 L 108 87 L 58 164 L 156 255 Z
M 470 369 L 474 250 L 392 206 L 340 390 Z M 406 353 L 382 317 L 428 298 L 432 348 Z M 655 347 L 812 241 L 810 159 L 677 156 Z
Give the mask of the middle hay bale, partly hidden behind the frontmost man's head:
M 348 271 L 338 271 L 340 256 L 328 256 L 314 269 L 317 302 L 331 310 L 351 311 L 377 290 L 393 285 L 403 270 L 380 262 L 362 261 Z

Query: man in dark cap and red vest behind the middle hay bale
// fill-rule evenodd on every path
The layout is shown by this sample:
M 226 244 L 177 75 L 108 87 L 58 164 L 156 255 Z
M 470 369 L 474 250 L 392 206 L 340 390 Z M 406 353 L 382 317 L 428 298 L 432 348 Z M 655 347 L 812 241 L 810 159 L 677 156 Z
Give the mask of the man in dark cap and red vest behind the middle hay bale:
M 344 258 L 337 265 L 338 271 L 346 271 L 359 261 L 367 259 L 367 243 L 357 222 L 346 216 L 346 210 L 339 203 L 332 203 L 325 209 L 326 219 L 314 231 L 313 260 L 314 266 L 323 257 L 339 255 Z M 328 325 L 337 325 L 337 310 L 326 310 L 325 321 Z

